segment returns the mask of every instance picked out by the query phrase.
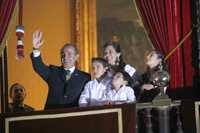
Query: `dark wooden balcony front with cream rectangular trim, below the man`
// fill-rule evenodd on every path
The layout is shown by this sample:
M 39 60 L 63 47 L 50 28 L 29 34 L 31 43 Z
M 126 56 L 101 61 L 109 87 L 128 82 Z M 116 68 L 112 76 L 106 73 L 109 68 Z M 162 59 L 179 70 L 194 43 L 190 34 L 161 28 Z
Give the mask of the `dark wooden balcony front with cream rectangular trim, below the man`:
M 2 120 L 5 133 L 135 133 L 135 105 L 4 114 Z

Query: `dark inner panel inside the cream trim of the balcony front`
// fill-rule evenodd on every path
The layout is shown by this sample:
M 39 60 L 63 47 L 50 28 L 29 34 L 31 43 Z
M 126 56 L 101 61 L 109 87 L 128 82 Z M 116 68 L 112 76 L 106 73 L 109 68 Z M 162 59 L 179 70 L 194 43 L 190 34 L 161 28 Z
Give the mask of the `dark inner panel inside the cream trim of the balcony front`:
M 120 110 L 119 110 L 120 111 Z M 78 113 L 78 114 L 77 114 Z M 72 133 L 118 133 L 118 113 L 103 113 L 101 111 L 96 112 L 82 112 L 88 113 L 84 116 L 81 112 L 77 112 L 68 116 L 67 113 L 60 115 L 36 115 L 29 117 L 28 120 L 19 121 L 13 120 L 9 122 L 9 131 L 6 133 L 66 133 L 66 131 Z M 91 113 L 91 114 L 90 114 Z M 78 115 L 78 116 L 76 116 Z M 39 118 L 36 118 L 39 117 Z M 52 118 L 49 118 L 52 117 Z M 56 118 L 58 117 L 58 118 Z M 27 117 L 24 117 L 25 119 Z M 36 124 L 37 123 L 37 124 Z M 110 124 L 109 124 L 110 123 Z

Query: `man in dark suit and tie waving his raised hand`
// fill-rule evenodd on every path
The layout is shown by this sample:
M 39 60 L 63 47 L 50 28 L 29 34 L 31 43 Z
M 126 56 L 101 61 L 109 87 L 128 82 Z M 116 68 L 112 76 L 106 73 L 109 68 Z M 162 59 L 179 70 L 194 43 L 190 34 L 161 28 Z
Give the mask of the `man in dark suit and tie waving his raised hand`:
M 72 44 L 65 44 L 61 49 L 62 66 L 47 66 L 43 63 L 40 54 L 42 44 L 42 33 L 34 32 L 31 55 L 33 68 L 49 87 L 45 109 L 77 106 L 79 96 L 87 81 L 90 80 L 88 73 L 75 67 L 79 56 L 77 48 Z

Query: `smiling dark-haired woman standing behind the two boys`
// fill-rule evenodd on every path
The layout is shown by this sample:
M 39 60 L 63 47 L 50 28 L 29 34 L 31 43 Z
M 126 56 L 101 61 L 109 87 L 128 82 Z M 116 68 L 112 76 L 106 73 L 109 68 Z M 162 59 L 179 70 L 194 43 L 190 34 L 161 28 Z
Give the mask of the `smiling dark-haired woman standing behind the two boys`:
M 124 70 L 130 75 L 130 77 L 132 77 L 131 87 L 134 89 L 134 92 L 137 98 L 140 92 L 138 90 L 140 76 L 134 67 L 124 62 L 120 45 L 112 41 L 107 42 L 104 45 L 104 59 L 108 61 L 108 64 L 109 64 L 108 74 L 110 76 L 113 76 L 113 74 L 118 70 Z

